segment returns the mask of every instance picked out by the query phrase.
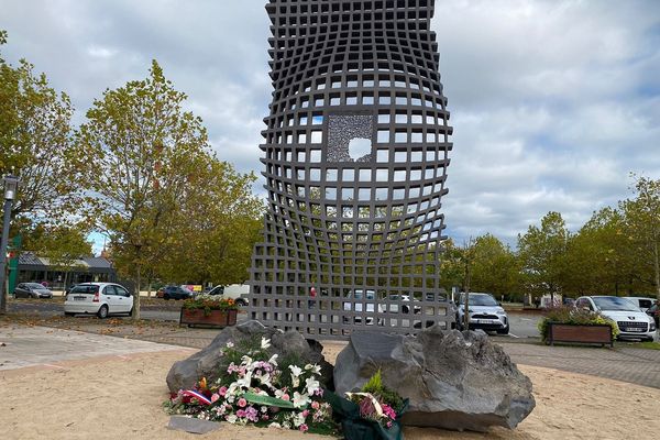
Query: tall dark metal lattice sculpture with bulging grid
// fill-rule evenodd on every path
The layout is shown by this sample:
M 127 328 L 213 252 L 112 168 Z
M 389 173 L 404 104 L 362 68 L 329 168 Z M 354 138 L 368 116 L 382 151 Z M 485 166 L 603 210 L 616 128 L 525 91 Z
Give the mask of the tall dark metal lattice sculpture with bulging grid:
M 249 314 L 308 338 L 453 322 L 433 0 L 271 0 L 268 212 Z

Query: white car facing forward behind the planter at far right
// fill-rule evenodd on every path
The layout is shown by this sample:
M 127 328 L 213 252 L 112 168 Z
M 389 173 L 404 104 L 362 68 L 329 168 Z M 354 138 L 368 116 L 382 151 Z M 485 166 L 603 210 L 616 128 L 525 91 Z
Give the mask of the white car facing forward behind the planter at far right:
M 652 341 L 656 321 L 628 299 L 618 296 L 581 296 L 575 307 L 598 311 L 612 319 L 619 329 L 619 339 L 642 339 Z

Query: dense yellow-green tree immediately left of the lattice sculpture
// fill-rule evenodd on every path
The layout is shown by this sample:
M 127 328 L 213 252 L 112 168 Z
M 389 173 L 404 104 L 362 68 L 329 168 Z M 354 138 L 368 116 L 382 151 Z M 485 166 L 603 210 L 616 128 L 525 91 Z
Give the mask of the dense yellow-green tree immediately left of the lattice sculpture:
M 200 173 L 205 185 L 177 212 L 177 237 L 164 246 L 154 271 L 169 280 L 244 283 L 254 243 L 262 238 L 263 204 L 251 190 L 255 176 L 215 157 Z

